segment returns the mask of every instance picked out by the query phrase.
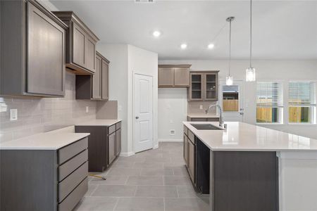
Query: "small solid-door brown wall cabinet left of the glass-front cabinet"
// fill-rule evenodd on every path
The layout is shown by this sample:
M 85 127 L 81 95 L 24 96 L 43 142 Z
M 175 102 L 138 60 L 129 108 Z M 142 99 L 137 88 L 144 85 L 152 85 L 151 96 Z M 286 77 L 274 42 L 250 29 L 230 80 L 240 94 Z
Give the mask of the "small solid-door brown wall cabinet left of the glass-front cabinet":
M 159 65 L 159 88 L 189 87 L 191 65 Z

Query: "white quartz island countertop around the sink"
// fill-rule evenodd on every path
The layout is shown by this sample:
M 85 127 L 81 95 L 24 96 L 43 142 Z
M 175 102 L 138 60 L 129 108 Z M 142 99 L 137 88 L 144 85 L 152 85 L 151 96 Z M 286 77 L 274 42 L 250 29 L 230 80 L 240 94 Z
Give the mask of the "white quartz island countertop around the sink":
M 288 134 L 243 122 L 225 122 L 227 130 L 198 130 L 192 124 L 219 122 L 183 122 L 212 151 L 317 151 L 317 140 Z

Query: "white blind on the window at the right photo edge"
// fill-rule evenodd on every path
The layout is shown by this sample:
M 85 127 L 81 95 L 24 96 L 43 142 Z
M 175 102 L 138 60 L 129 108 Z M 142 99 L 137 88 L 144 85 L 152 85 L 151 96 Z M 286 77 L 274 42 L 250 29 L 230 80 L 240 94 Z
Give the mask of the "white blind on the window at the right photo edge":
M 316 83 L 289 82 L 288 103 L 290 106 L 316 106 Z

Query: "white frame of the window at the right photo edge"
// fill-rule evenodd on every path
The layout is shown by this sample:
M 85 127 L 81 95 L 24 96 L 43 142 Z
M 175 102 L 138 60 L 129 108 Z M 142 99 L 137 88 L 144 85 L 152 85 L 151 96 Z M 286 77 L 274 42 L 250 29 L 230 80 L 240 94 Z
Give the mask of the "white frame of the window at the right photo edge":
M 292 104 L 290 103 L 290 82 L 311 82 L 314 84 L 313 89 L 313 103 L 309 104 L 309 106 L 303 106 L 303 104 Z M 290 125 L 316 125 L 317 124 L 317 80 L 315 79 L 289 79 L 287 82 L 287 124 Z M 290 122 L 290 107 L 309 107 L 311 108 L 311 122 Z

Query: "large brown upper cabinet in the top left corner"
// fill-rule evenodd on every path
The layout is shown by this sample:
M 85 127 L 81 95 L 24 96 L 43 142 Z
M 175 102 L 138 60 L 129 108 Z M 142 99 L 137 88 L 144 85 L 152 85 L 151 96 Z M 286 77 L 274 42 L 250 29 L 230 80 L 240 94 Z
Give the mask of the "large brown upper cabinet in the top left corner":
M 37 1 L 0 1 L 0 9 L 0 94 L 64 96 L 67 26 Z

